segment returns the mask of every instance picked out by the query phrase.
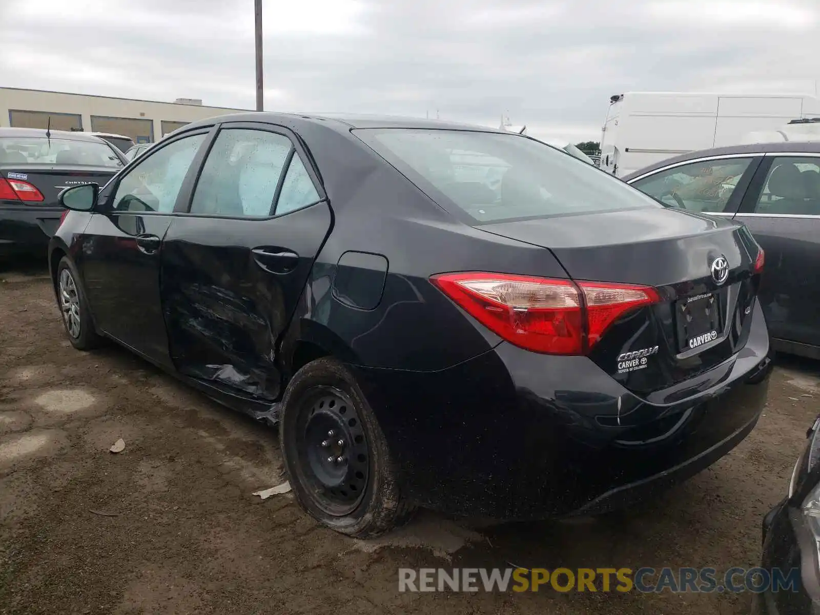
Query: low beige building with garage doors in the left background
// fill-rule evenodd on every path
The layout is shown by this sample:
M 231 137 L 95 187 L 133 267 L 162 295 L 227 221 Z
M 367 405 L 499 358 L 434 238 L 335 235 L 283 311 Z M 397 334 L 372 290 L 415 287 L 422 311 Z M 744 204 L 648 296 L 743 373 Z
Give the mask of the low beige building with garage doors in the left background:
M 153 143 L 180 126 L 248 109 L 204 107 L 201 100 L 174 103 L 86 96 L 39 89 L 0 88 L 0 126 L 125 134 L 134 143 Z

